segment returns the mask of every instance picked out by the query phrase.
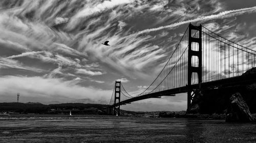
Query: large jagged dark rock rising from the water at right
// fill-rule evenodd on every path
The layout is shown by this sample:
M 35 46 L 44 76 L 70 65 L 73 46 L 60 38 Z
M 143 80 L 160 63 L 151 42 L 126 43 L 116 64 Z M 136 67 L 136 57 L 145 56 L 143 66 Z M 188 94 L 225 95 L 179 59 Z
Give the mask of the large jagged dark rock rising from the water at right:
M 226 122 L 251 122 L 253 121 L 249 107 L 240 93 L 230 97 L 231 113 L 226 117 Z

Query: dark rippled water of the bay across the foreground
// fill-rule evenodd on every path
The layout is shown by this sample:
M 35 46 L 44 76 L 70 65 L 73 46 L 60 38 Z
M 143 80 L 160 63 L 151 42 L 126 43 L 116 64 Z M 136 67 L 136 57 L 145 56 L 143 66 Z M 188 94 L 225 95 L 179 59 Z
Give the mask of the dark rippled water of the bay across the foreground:
M 0 116 L 0 142 L 256 142 L 256 123 L 116 116 Z

